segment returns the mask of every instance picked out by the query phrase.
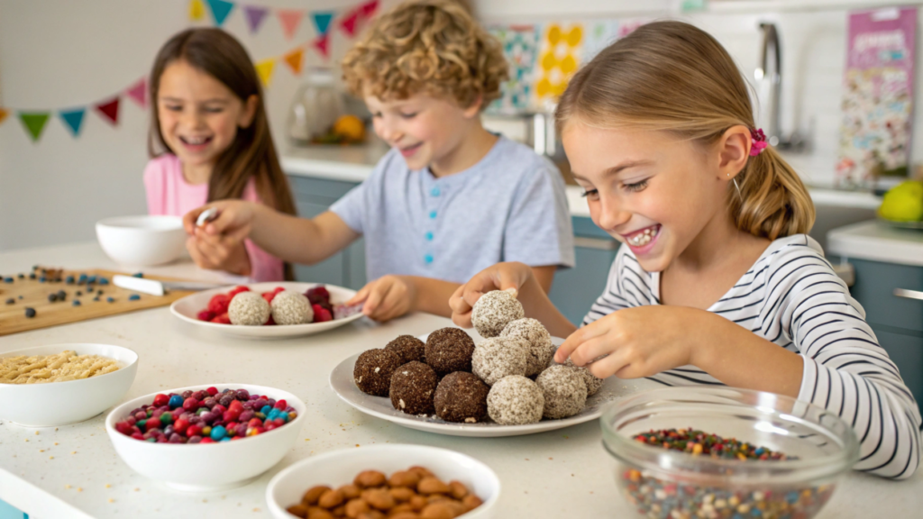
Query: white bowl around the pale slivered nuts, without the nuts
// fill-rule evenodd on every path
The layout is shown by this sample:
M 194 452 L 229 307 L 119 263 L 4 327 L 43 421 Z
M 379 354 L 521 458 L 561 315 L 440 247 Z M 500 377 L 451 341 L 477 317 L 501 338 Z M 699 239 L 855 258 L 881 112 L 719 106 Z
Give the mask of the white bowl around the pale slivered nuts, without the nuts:
M 66 382 L 0 384 L 0 418 L 25 427 L 57 427 L 99 415 L 128 392 L 138 372 L 138 354 L 110 344 L 48 344 L 0 353 L 0 356 L 54 355 L 73 350 L 78 355 L 114 359 L 112 373 Z

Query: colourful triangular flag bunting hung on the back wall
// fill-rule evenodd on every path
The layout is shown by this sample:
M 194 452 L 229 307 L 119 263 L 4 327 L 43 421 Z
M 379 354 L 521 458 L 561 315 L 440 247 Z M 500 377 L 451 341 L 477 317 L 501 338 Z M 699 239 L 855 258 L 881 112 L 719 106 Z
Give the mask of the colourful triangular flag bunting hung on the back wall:
M 313 49 L 325 60 L 330 59 L 330 32 L 334 27 L 353 38 L 359 33 L 365 22 L 372 18 L 378 11 L 378 0 L 367 0 L 358 5 L 342 10 L 309 11 L 306 9 L 273 8 L 265 6 L 244 5 L 237 8 L 235 2 L 227 0 L 190 0 L 188 4 L 188 17 L 192 21 L 203 21 L 210 13 L 215 26 L 222 27 L 225 21 L 234 12 L 242 11 L 246 19 L 246 27 L 252 34 L 265 26 L 268 18 L 277 18 L 286 40 L 294 39 L 301 27 L 304 18 L 310 18 L 316 31 L 316 36 L 306 43 L 297 45 L 288 52 L 278 56 L 264 58 L 255 64 L 257 74 L 264 87 L 269 87 L 276 64 L 282 61 L 288 66 L 295 76 L 300 76 L 304 70 L 305 52 Z M 119 109 L 122 100 L 127 97 L 139 107 L 148 106 L 148 78 L 140 78 L 124 90 L 106 97 L 96 103 L 85 106 L 71 106 L 62 109 L 45 110 L 19 110 L 16 108 L 0 106 L 0 125 L 6 119 L 15 115 L 22 127 L 26 130 L 33 142 L 42 138 L 42 132 L 54 115 L 74 138 L 79 137 L 80 130 L 86 120 L 88 111 L 94 112 L 102 120 L 118 126 Z

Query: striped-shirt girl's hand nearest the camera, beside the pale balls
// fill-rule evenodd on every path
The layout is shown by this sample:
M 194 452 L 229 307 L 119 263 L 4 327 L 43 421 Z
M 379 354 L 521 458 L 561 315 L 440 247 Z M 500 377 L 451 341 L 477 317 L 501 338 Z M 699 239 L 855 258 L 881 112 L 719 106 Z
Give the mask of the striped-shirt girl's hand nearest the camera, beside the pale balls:
M 697 331 L 704 328 L 697 326 L 700 313 L 664 306 L 617 310 L 571 333 L 557 348 L 555 361 L 570 357 L 577 366 L 589 364 L 590 372 L 601 379 L 639 379 L 695 364 Z

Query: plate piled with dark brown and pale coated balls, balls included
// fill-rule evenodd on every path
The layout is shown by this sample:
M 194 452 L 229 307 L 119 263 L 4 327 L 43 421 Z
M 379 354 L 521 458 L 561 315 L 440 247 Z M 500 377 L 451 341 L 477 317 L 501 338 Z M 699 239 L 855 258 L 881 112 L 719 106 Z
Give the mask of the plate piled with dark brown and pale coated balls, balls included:
M 526 319 L 509 292 L 481 296 L 472 322 L 476 338 L 442 328 L 350 356 L 330 373 L 330 387 L 367 415 L 471 437 L 566 428 L 598 418 L 607 402 L 659 387 L 652 380 L 598 379 L 569 359 L 557 364 L 563 340 Z

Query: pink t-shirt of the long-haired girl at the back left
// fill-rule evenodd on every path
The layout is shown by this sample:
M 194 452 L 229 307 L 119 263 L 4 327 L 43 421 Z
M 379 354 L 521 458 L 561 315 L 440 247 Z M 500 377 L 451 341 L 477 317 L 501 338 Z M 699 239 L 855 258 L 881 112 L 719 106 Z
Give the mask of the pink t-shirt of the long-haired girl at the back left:
M 148 192 L 150 214 L 183 216 L 205 205 L 209 199 L 209 185 L 187 183 L 182 164 L 170 153 L 152 159 L 144 168 L 144 187 Z M 246 183 L 241 199 L 261 203 L 253 178 Z M 271 256 L 250 240 L 246 240 L 244 245 L 250 257 L 250 277 L 254 281 L 282 281 L 285 278 L 282 259 Z

